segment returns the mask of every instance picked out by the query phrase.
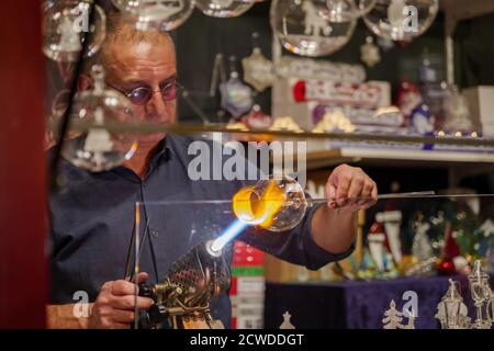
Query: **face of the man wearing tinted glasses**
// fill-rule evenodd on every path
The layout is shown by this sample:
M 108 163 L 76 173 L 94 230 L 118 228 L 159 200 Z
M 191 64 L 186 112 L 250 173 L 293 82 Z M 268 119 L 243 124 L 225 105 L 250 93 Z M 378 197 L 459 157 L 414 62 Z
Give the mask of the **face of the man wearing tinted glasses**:
M 143 105 L 134 104 L 135 117 L 150 124 L 170 125 L 176 121 L 176 100 L 166 101 L 161 89 L 177 77 L 175 48 L 171 42 L 160 38 L 156 43 L 121 43 L 106 47 L 106 83 L 124 93 L 137 88 L 148 88 L 151 98 Z M 139 147 L 153 147 L 165 134 L 145 134 Z

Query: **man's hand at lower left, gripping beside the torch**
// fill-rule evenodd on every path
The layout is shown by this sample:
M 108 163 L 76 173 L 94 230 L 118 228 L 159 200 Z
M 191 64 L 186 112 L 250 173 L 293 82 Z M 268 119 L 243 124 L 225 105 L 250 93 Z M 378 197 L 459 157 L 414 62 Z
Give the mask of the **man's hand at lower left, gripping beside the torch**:
M 137 282 L 147 279 L 147 273 L 139 273 Z M 94 301 L 89 317 L 89 329 L 128 329 L 134 321 L 134 312 L 148 309 L 154 301 L 148 297 L 136 296 L 138 286 L 128 281 L 106 282 Z

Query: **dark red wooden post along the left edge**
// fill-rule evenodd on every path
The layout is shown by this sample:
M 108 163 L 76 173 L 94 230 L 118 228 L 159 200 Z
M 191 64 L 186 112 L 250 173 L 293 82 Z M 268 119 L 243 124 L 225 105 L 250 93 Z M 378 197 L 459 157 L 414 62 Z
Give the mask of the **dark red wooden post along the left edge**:
M 47 299 L 41 0 L 0 11 L 0 328 L 44 328 Z

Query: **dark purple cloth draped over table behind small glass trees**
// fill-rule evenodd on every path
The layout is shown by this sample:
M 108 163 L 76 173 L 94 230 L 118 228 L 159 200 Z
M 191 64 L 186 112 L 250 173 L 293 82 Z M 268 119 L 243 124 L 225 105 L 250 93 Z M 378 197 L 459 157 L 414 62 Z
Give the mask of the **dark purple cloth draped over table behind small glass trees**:
M 462 295 L 474 313 L 465 278 L 460 280 Z M 434 318 L 437 305 L 448 290 L 448 276 L 401 278 L 390 281 L 348 281 L 338 283 L 267 283 L 265 303 L 265 328 L 279 328 L 282 314 L 292 315 L 291 322 L 297 329 L 382 329 L 383 313 L 394 299 L 402 310 L 406 301 L 403 293 L 414 291 L 418 297 L 416 329 L 439 328 Z M 407 319 L 404 318 L 403 324 Z

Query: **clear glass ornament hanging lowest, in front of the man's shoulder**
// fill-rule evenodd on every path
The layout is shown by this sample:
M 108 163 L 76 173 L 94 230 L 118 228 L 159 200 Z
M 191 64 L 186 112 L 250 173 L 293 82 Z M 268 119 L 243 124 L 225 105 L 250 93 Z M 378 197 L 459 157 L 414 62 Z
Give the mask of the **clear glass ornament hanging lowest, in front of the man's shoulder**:
M 92 69 L 94 89 L 78 93 L 71 111 L 71 129 L 63 156 L 77 167 L 99 172 L 121 166 L 137 149 L 134 133 L 113 133 L 105 124 L 134 120 L 133 105 L 121 93 L 105 89 L 103 68 Z M 79 127 L 82 125 L 82 127 Z

